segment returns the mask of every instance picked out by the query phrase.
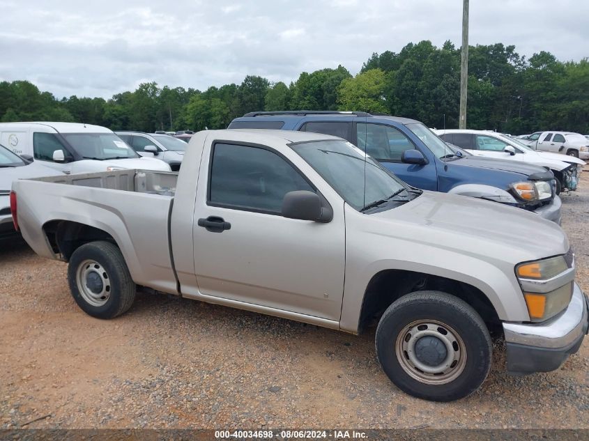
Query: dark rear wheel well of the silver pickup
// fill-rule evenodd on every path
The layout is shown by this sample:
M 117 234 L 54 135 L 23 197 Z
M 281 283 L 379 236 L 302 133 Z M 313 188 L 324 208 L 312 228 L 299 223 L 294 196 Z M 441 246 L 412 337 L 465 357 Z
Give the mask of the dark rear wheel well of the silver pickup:
M 53 252 L 61 254 L 65 261 L 69 261 L 73 252 L 88 242 L 107 240 L 116 245 L 116 240 L 106 231 L 78 222 L 53 220 L 43 225 L 43 231 Z

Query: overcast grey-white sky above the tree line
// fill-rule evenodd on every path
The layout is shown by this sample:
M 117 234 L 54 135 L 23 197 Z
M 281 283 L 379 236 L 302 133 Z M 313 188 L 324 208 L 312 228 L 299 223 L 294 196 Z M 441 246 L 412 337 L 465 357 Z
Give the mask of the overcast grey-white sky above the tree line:
M 0 0 L 0 80 L 63 96 L 135 90 L 141 82 L 201 90 L 300 72 L 431 40 L 461 42 L 461 0 Z M 470 43 L 521 55 L 589 56 L 587 0 L 471 0 Z

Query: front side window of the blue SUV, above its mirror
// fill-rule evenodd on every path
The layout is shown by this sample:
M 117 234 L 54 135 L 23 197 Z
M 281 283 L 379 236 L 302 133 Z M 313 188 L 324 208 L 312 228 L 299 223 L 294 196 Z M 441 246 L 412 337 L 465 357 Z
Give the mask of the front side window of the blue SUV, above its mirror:
M 405 150 L 415 148 L 409 139 L 390 125 L 358 123 L 360 149 L 379 161 L 401 161 Z

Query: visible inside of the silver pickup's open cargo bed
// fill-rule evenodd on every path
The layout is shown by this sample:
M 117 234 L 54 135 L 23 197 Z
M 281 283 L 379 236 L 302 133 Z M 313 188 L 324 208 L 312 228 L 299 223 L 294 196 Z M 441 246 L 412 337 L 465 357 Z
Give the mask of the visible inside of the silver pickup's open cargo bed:
M 161 196 L 174 196 L 178 173 L 149 170 L 113 170 L 96 173 L 49 176 L 37 178 L 46 183 L 81 185 L 83 187 L 107 188 Z

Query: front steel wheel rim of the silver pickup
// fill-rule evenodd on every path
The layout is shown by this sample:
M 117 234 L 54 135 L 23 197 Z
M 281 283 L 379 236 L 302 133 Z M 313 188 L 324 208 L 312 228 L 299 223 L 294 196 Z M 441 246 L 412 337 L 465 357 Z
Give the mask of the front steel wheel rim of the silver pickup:
M 422 340 L 426 338 L 425 340 Z M 435 343 L 438 355 L 443 359 L 425 362 L 420 341 Z M 437 320 L 417 320 L 409 323 L 399 332 L 395 343 L 395 354 L 401 368 L 414 380 L 426 385 L 445 385 L 456 380 L 466 366 L 464 341 L 452 327 Z

